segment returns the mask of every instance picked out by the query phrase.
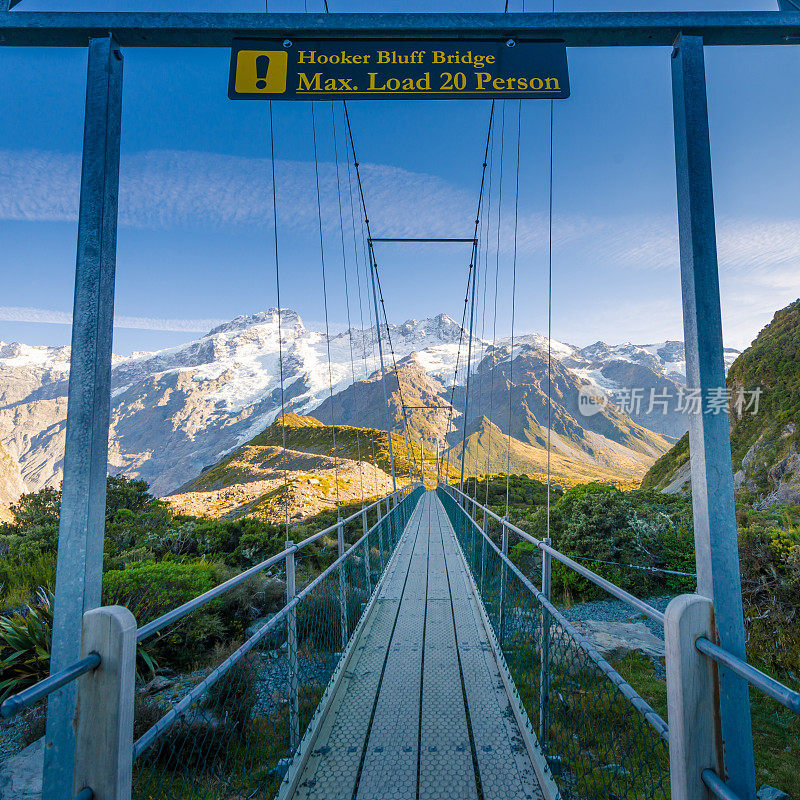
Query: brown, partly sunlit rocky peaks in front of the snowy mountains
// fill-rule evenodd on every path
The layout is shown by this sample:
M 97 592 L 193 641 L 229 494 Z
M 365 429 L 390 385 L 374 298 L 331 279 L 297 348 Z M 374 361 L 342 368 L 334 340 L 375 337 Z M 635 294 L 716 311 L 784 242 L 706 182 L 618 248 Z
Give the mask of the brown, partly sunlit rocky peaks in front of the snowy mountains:
M 508 346 L 487 349 L 471 379 L 467 474 L 505 471 L 510 446 L 514 473 L 541 475 L 547 460 L 547 354 L 536 342 L 523 343 L 515 346 L 512 364 Z M 406 406 L 428 407 L 408 411 L 412 439 L 426 441 L 429 447 L 435 442 L 444 450 L 452 448 L 450 461 L 460 464 L 465 387 L 458 385 L 451 391 L 444 380 L 425 370 L 421 360 L 420 354 L 412 353 L 387 376 L 393 422 L 401 429 L 402 390 Z M 576 480 L 638 481 L 670 442 L 610 402 L 591 415 L 581 413 L 580 396 L 586 386 L 562 361 L 552 363 L 550 438 L 557 454 L 551 459 L 557 467 L 553 474 L 570 484 Z M 311 415 L 328 424 L 334 419 L 348 425 L 368 420 L 370 425 L 385 426 L 379 373 L 325 400 Z

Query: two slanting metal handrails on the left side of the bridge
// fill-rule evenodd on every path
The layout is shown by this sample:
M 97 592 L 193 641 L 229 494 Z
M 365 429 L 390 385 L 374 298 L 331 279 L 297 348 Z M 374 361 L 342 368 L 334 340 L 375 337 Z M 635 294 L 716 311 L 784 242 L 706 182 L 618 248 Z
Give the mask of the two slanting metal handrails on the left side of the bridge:
M 397 497 L 398 503 L 392 509 L 390 509 L 389 513 L 385 516 L 381 517 L 371 528 L 365 531 L 356 542 L 350 545 L 350 547 L 345 550 L 342 555 L 340 555 L 333 563 L 331 563 L 328 567 L 326 567 L 313 581 L 311 581 L 307 586 L 305 586 L 300 592 L 298 592 L 294 598 L 286 603 L 283 608 L 275 614 L 272 619 L 266 622 L 261 628 L 259 628 L 249 639 L 247 639 L 239 648 L 237 648 L 233 653 L 231 653 L 228 658 L 226 658 L 221 664 L 215 667 L 200 683 L 194 686 L 191 691 L 189 691 L 184 697 L 181 698 L 179 702 L 177 702 L 161 719 L 158 720 L 151 728 L 149 728 L 145 733 L 143 733 L 133 745 L 133 759 L 136 760 L 142 753 L 144 753 L 149 747 L 153 745 L 153 743 L 163 734 L 172 723 L 178 719 L 187 709 L 189 709 L 193 703 L 204 694 L 209 688 L 211 688 L 220 678 L 222 678 L 225 673 L 227 673 L 238 661 L 240 661 L 247 653 L 249 653 L 262 639 L 264 639 L 267 634 L 272 631 L 273 629 L 277 628 L 278 625 L 285 620 L 285 618 L 289 615 L 289 612 L 292 609 L 296 608 L 301 601 L 307 597 L 311 592 L 323 581 L 327 578 L 335 569 L 337 569 L 347 558 L 350 556 L 351 553 L 355 551 L 357 547 L 363 545 L 364 541 L 369 538 L 369 535 L 378 528 L 379 525 L 382 525 L 385 520 L 389 519 L 400 506 L 400 503 L 408 497 L 408 495 L 416 488 L 416 484 L 410 484 L 408 486 L 403 487 L 402 489 L 398 489 L 396 492 L 392 492 L 392 494 L 387 495 L 385 498 L 381 498 L 376 503 L 373 503 L 367 508 L 364 508 L 362 511 L 359 511 L 357 514 L 353 514 L 351 517 L 348 517 L 347 520 L 340 520 L 337 522 L 332 529 L 326 528 L 325 531 L 314 534 L 314 536 L 309 537 L 308 539 L 304 539 L 298 545 L 294 545 L 293 547 L 286 548 L 280 555 L 281 557 L 285 558 L 287 554 L 294 553 L 297 550 L 301 549 L 301 547 L 306 546 L 309 542 L 318 539 L 321 535 L 330 530 L 336 530 L 339 526 L 344 525 L 347 521 L 352 521 L 356 517 L 361 516 L 365 513 L 368 508 L 372 508 L 373 506 L 377 505 L 378 502 L 383 502 L 385 499 L 389 499 L 390 497 Z M 267 561 L 273 561 L 277 557 L 273 556 L 272 559 L 267 559 Z M 266 562 L 264 562 L 266 563 Z M 262 565 L 257 565 L 261 567 Z M 262 567 L 263 568 L 263 567 Z M 252 570 L 247 570 L 246 572 L 242 573 L 242 575 L 253 574 Z M 240 577 L 240 576 L 237 576 Z M 228 581 L 227 583 L 230 583 Z M 220 586 L 225 586 L 225 584 L 221 584 Z M 217 587 L 220 588 L 220 587 Z M 228 587 L 230 588 L 230 587 Z M 213 591 L 213 590 L 212 590 Z M 206 592 L 203 595 L 200 595 L 196 600 L 200 600 L 202 598 L 207 597 L 210 595 L 211 592 Z M 214 595 L 215 597 L 218 595 Z M 213 599 L 213 598 L 208 598 Z M 176 611 L 179 611 L 186 606 L 192 604 L 193 601 L 189 603 L 185 603 L 183 606 L 180 606 Z M 207 602 L 207 600 L 205 601 Z M 201 604 L 202 605 L 202 604 Z M 194 605 L 189 611 L 198 608 L 198 605 Z M 189 611 L 184 612 L 189 613 Z M 181 614 L 180 616 L 184 616 Z M 168 616 L 168 615 L 164 615 Z M 158 620 L 156 620 L 157 622 Z M 170 620 L 174 621 L 174 620 Z M 165 623 L 166 624 L 166 623 Z M 161 626 L 163 627 L 163 626 Z M 141 637 L 139 637 L 141 639 Z

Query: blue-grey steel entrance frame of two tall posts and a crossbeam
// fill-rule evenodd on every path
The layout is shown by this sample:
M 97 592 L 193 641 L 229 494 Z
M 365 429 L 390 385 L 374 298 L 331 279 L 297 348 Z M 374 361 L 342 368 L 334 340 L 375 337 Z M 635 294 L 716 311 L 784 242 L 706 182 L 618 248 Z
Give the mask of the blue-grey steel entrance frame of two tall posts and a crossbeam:
M 0 0 L 0 46 L 89 50 L 54 672 L 77 660 L 82 614 L 100 602 L 119 171 L 120 46 L 229 47 L 237 37 L 287 35 L 295 39 L 513 37 L 519 41 L 559 39 L 568 47 L 675 44 L 673 111 L 687 384 L 704 391 L 724 386 L 703 50 L 708 45 L 800 44 L 796 0 L 779 0 L 780 12 L 553 14 L 11 12 L 17 1 Z M 371 247 L 370 257 L 372 261 Z M 372 268 L 377 306 L 374 264 Z M 382 369 L 385 390 L 383 364 Z M 727 423 L 724 414 L 699 415 L 691 423 L 698 592 L 714 600 L 720 644 L 735 658 L 743 659 L 746 653 Z M 391 451 L 391 432 L 389 447 Z M 392 454 L 394 479 L 393 462 Z M 592 574 L 546 545 L 537 544 L 576 571 Z M 619 597 L 625 593 L 616 590 L 612 594 Z M 663 615 L 642 608 L 644 604 L 638 602 L 648 616 L 663 620 Z M 54 693 L 48 704 L 45 794 L 52 800 L 69 800 L 64 787 L 71 785 L 74 732 L 70 720 L 75 699 L 74 685 L 70 684 Z M 720 706 L 728 783 L 742 800 L 754 800 L 747 683 L 741 674 L 724 665 L 720 668 Z

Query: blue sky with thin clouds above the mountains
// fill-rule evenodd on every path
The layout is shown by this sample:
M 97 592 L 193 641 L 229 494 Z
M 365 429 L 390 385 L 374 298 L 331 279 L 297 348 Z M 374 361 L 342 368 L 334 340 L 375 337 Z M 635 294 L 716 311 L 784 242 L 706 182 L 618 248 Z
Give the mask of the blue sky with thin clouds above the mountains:
M 101 7 L 262 6 L 248 0 L 23 0 L 18 8 Z M 774 3 L 648 4 L 648 10 L 689 7 L 774 10 Z M 270 8 L 302 10 L 302 3 L 281 0 Z M 502 3 L 331 0 L 331 8 L 496 11 Z M 557 8 L 598 5 L 573 0 Z M 600 8 L 637 6 L 606 0 Z M 549 10 L 549 3 L 526 5 L 537 9 Z M 800 295 L 800 51 L 706 52 L 724 334 L 741 348 L 776 309 Z M 568 58 L 572 97 L 555 107 L 553 335 L 579 345 L 682 338 L 669 50 L 572 49 Z M 125 51 L 116 352 L 195 338 L 215 320 L 275 304 L 267 106 L 227 99 L 228 61 L 227 50 Z M 69 340 L 85 69 L 82 50 L 0 48 L 3 341 Z M 508 101 L 505 109 L 499 335 L 510 332 L 517 107 Z M 373 233 L 471 236 L 488 102 L 362 101 L 350 109 Z M 346 315 L 331 105 L 319 103 L 315 113 L 330 320 L 338 327 Z M 276 103 L 274 114 L 283 304 L 319 323 L 324 309 L 310 105 Z M 336 114 L 343 153 L 340 106 Z M 516 330 L 528 332 L 546 326 L 548 104 L 528 101 L 522 115 Z M 501 116 L 498 106 L 498 122 Z M 498 125 L 493 202 L 499 150 Z M 340 170 L 346 186 L 344 161 Z M 347 217 L 346 189 L 344 199 Z M 357 322 L 351 239 L 346 246 Z M 442 311 L 460 319 L 469 258 L 464 246 L 376 247 L 390 319 Z M 490 252 L 490 282 L 495 264 Z M 489 334 L 491 320 L 483 325 Z M 479 332 L 483 325 L 476 326 Z

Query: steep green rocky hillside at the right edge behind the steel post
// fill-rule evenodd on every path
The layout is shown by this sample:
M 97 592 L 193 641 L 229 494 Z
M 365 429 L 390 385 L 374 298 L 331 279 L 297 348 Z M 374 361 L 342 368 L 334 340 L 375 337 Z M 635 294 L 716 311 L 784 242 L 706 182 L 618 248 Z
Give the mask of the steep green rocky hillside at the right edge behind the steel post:
M 778 311 L 734 361 L 728 389 L 737 492 L 761 508 L 800 504 L 800 300 Z M 642 485 L 674 493 L 688 491 L 690 480 L 686 436 Z

